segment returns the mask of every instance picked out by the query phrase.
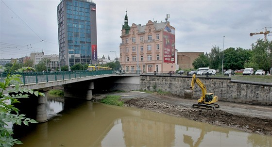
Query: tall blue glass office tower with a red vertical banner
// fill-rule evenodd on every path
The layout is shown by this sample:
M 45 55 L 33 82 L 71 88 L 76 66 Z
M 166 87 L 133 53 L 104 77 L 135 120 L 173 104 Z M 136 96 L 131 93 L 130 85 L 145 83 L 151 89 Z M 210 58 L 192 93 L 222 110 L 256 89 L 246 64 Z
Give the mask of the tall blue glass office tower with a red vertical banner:
M 57 6 L 61 66 L 97 62 L 96 4 L 61 0 Z

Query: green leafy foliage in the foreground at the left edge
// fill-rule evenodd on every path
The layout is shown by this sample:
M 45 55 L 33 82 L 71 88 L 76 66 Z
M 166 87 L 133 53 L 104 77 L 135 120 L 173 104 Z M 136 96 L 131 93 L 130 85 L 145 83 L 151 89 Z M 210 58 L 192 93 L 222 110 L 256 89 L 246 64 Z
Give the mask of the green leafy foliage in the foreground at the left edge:
M 13 89 L 7 90 L 6 88 L 11 83 L 21 82 L 19 77 L 20 75 L 11 75 L 9 72 L 4 82 L 0 82 L 0 147 L 12 147 L 15 144 L 22 144 L 19 140 L 13 138 L 13 130 L 7 127 L 8 124 L 21 125 L 23 123 L 28 125 L 29 123 L 36 123 L 33 119 L 25 118 L 24 114 L 19 114 L 19 110 L 13 104 L 18 103 L 19 98 L 28 98 L 28 94 L 45 96 L 38 91 L 20 88 L 18 84 Z M 5 91 L 12 93 L 12 95 L 4 94 Z

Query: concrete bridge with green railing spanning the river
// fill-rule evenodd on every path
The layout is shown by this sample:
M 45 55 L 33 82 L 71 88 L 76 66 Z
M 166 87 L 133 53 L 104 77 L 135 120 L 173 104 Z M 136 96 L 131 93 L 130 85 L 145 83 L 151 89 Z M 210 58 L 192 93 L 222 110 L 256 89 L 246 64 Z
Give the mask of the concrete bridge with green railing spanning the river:
M 66 98 L 81 98 L 91 100 L 92 91 L 104 90 L 119 90 L 125 88 L 126 91 L 139 89 L 139 75 L 137 74 L 115 74 L 112 70 L 100 71 L 71 71 L 71 72 L 40 72 L 40 73 L 18 73 L 21 75 L 22 83 L 12 83 L 7 90 L 12 89 L 15 84 L 19 84 L 21 88 L 39 90 L 62 85 L 64 87 L 64 97 Z M 5 73 L 0 73 L 0 81 L 3 82 L 7 76 Z M 114 83 L 114 84 L 113 84 Z M 115 86 L 114 86 L 115 85 Z M 38 122 L 47 121 L 46 103 L 47 98 L 36 98 L 30 96 L 36 104 L 36 118 Z

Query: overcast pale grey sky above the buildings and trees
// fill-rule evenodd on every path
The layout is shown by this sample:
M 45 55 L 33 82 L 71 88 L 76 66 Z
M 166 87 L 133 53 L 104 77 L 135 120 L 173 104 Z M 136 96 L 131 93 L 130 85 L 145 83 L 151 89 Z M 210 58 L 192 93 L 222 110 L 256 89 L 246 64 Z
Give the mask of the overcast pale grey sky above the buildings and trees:
M 272 32 L 272 0 L 93 0 L 97 12 L 98 57 L 119 57 L 125 11 L 128 22 L 148 20 L 176 28 L 178 51 L 210 52 L 251 49 Z M 57 5 L 60 0 L 0 0 L 0 59 L 29 56 L 31 52 L 58 54 Z M 225 36 L 225 38 L 223 38 Z M 272 40 L 272 33 L 267 38 Z

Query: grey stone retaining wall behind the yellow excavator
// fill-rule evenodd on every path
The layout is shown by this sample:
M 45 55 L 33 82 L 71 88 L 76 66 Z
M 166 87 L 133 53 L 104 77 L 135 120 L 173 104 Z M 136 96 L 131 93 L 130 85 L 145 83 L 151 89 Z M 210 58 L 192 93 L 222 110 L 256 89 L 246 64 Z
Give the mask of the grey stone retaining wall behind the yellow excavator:
M 199 77 L 207 92 L 218 96 L 219 101 L 246 104 L 272 105 L 271 84 L 237 82 L 230 78 Z M 140 90 L 165 91 L 184 98 L 184 91 L 189 90 L 191 76 L 140 76 Z M 201 97 L 201 89 L 195 84 L 193 99 Z

